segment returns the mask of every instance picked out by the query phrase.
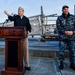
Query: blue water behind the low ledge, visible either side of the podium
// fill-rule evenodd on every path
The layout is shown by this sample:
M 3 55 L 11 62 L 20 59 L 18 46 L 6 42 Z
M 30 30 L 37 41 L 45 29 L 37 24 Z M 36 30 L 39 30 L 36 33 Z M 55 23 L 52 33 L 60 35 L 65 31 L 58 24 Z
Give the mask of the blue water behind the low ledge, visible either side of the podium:
M 58 47 L 59 46 L 59 42 L 58 41 L 45 41 L 45 42 L 41 42 L 41 36 L 34 36 L 34 38 L 32 38 L 31 36 L 28 36 L 28 41 L 29 41 L 29 46 L 30 47 Z M 0 48 L 5 48 L 5 40 L 0 40 Z

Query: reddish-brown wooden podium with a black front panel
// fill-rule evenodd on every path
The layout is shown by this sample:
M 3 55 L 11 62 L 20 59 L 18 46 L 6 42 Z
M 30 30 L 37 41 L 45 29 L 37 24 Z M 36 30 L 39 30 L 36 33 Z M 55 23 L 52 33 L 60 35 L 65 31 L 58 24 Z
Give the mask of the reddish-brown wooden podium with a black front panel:
M 23 43 L 25 27 L 0 27 L 0 38 L 5 38 L 5 69 L 2 75 L 24 75 Z

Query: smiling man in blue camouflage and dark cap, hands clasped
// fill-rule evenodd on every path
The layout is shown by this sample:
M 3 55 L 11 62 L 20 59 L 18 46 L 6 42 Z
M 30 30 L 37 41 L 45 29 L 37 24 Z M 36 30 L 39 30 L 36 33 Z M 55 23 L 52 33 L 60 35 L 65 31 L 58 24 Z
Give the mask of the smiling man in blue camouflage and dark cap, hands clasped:
M 62 7 L 62 15 L 57 18 L 57 30 L 59 34 L 59 60 L 60 69 L 64 68 L 64 52 L 69 50 L 70 68 L 75 70 L 75 16 L 69 13 L 69 7 Z

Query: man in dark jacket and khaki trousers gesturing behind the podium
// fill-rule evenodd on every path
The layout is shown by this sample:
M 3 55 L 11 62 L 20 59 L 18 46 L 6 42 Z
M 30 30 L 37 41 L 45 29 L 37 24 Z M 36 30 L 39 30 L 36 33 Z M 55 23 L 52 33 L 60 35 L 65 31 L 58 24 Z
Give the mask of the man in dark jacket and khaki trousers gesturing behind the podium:
M 14 21 L 14 26 L 25 26 L 26 27 L 26 35 L 31 32 L 31 25 L 29 23 L 29 19 L 24 16 L 24 9 L 22 7 L 18 8 L 18 15 L 11 16 L 7 11 L 4 13 L 8 16 L 10 21 Z M 29 65 L 29 51 L 28 51 L 28 38 L 23 39 L 23 49 L 24 49 L 24 62 L 25 69 L 30 71 Z

